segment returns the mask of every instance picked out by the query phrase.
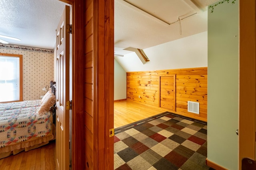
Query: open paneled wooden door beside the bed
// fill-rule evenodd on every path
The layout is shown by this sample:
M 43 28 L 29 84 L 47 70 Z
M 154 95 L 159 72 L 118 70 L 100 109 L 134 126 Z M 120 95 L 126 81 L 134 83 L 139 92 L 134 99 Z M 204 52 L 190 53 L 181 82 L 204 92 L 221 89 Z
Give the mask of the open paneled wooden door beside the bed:
M 66 6 L 56 29 L 56 169 L 69 169 L 69 15 Z

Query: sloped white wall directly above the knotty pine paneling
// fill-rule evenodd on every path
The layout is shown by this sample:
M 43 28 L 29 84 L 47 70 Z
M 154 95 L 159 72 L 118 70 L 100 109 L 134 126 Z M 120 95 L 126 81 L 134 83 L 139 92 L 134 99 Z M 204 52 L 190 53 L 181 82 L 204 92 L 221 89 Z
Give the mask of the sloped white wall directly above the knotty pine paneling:
M 149 62 L 142 64 L 133 52 L 116 60 L 126 72 L 207 66 L 207 31 L 143 49 Z

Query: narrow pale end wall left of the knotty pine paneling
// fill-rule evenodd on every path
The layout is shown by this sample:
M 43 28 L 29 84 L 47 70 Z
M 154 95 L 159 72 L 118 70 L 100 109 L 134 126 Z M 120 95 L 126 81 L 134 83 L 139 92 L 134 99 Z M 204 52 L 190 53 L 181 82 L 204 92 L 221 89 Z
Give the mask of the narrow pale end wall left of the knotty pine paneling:
M 126 99 L 126 71 L 114 60 L 114 100 Z

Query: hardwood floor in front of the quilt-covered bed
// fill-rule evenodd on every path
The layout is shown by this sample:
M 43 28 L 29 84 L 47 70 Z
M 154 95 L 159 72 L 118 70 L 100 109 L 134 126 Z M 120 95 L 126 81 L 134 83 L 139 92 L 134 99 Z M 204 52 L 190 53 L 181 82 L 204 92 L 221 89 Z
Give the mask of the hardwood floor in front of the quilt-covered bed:
M 55 140 L 40 148 L 0 159 L 0 170 L 55 170 Z

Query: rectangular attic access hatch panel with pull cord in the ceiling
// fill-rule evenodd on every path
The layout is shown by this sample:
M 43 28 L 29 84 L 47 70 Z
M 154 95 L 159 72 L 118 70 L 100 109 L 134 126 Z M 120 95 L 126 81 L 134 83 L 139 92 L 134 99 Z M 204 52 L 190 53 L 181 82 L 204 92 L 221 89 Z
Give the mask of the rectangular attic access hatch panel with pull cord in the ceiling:
M 178 18 L 186 18 L 199 12 L 199 8 L 191 0 L 123 0 L 134 6 L 135 10 L 146 12 L 155 18 L 172 24 Z M 136 9 L 137 8 L 137 9 Z

